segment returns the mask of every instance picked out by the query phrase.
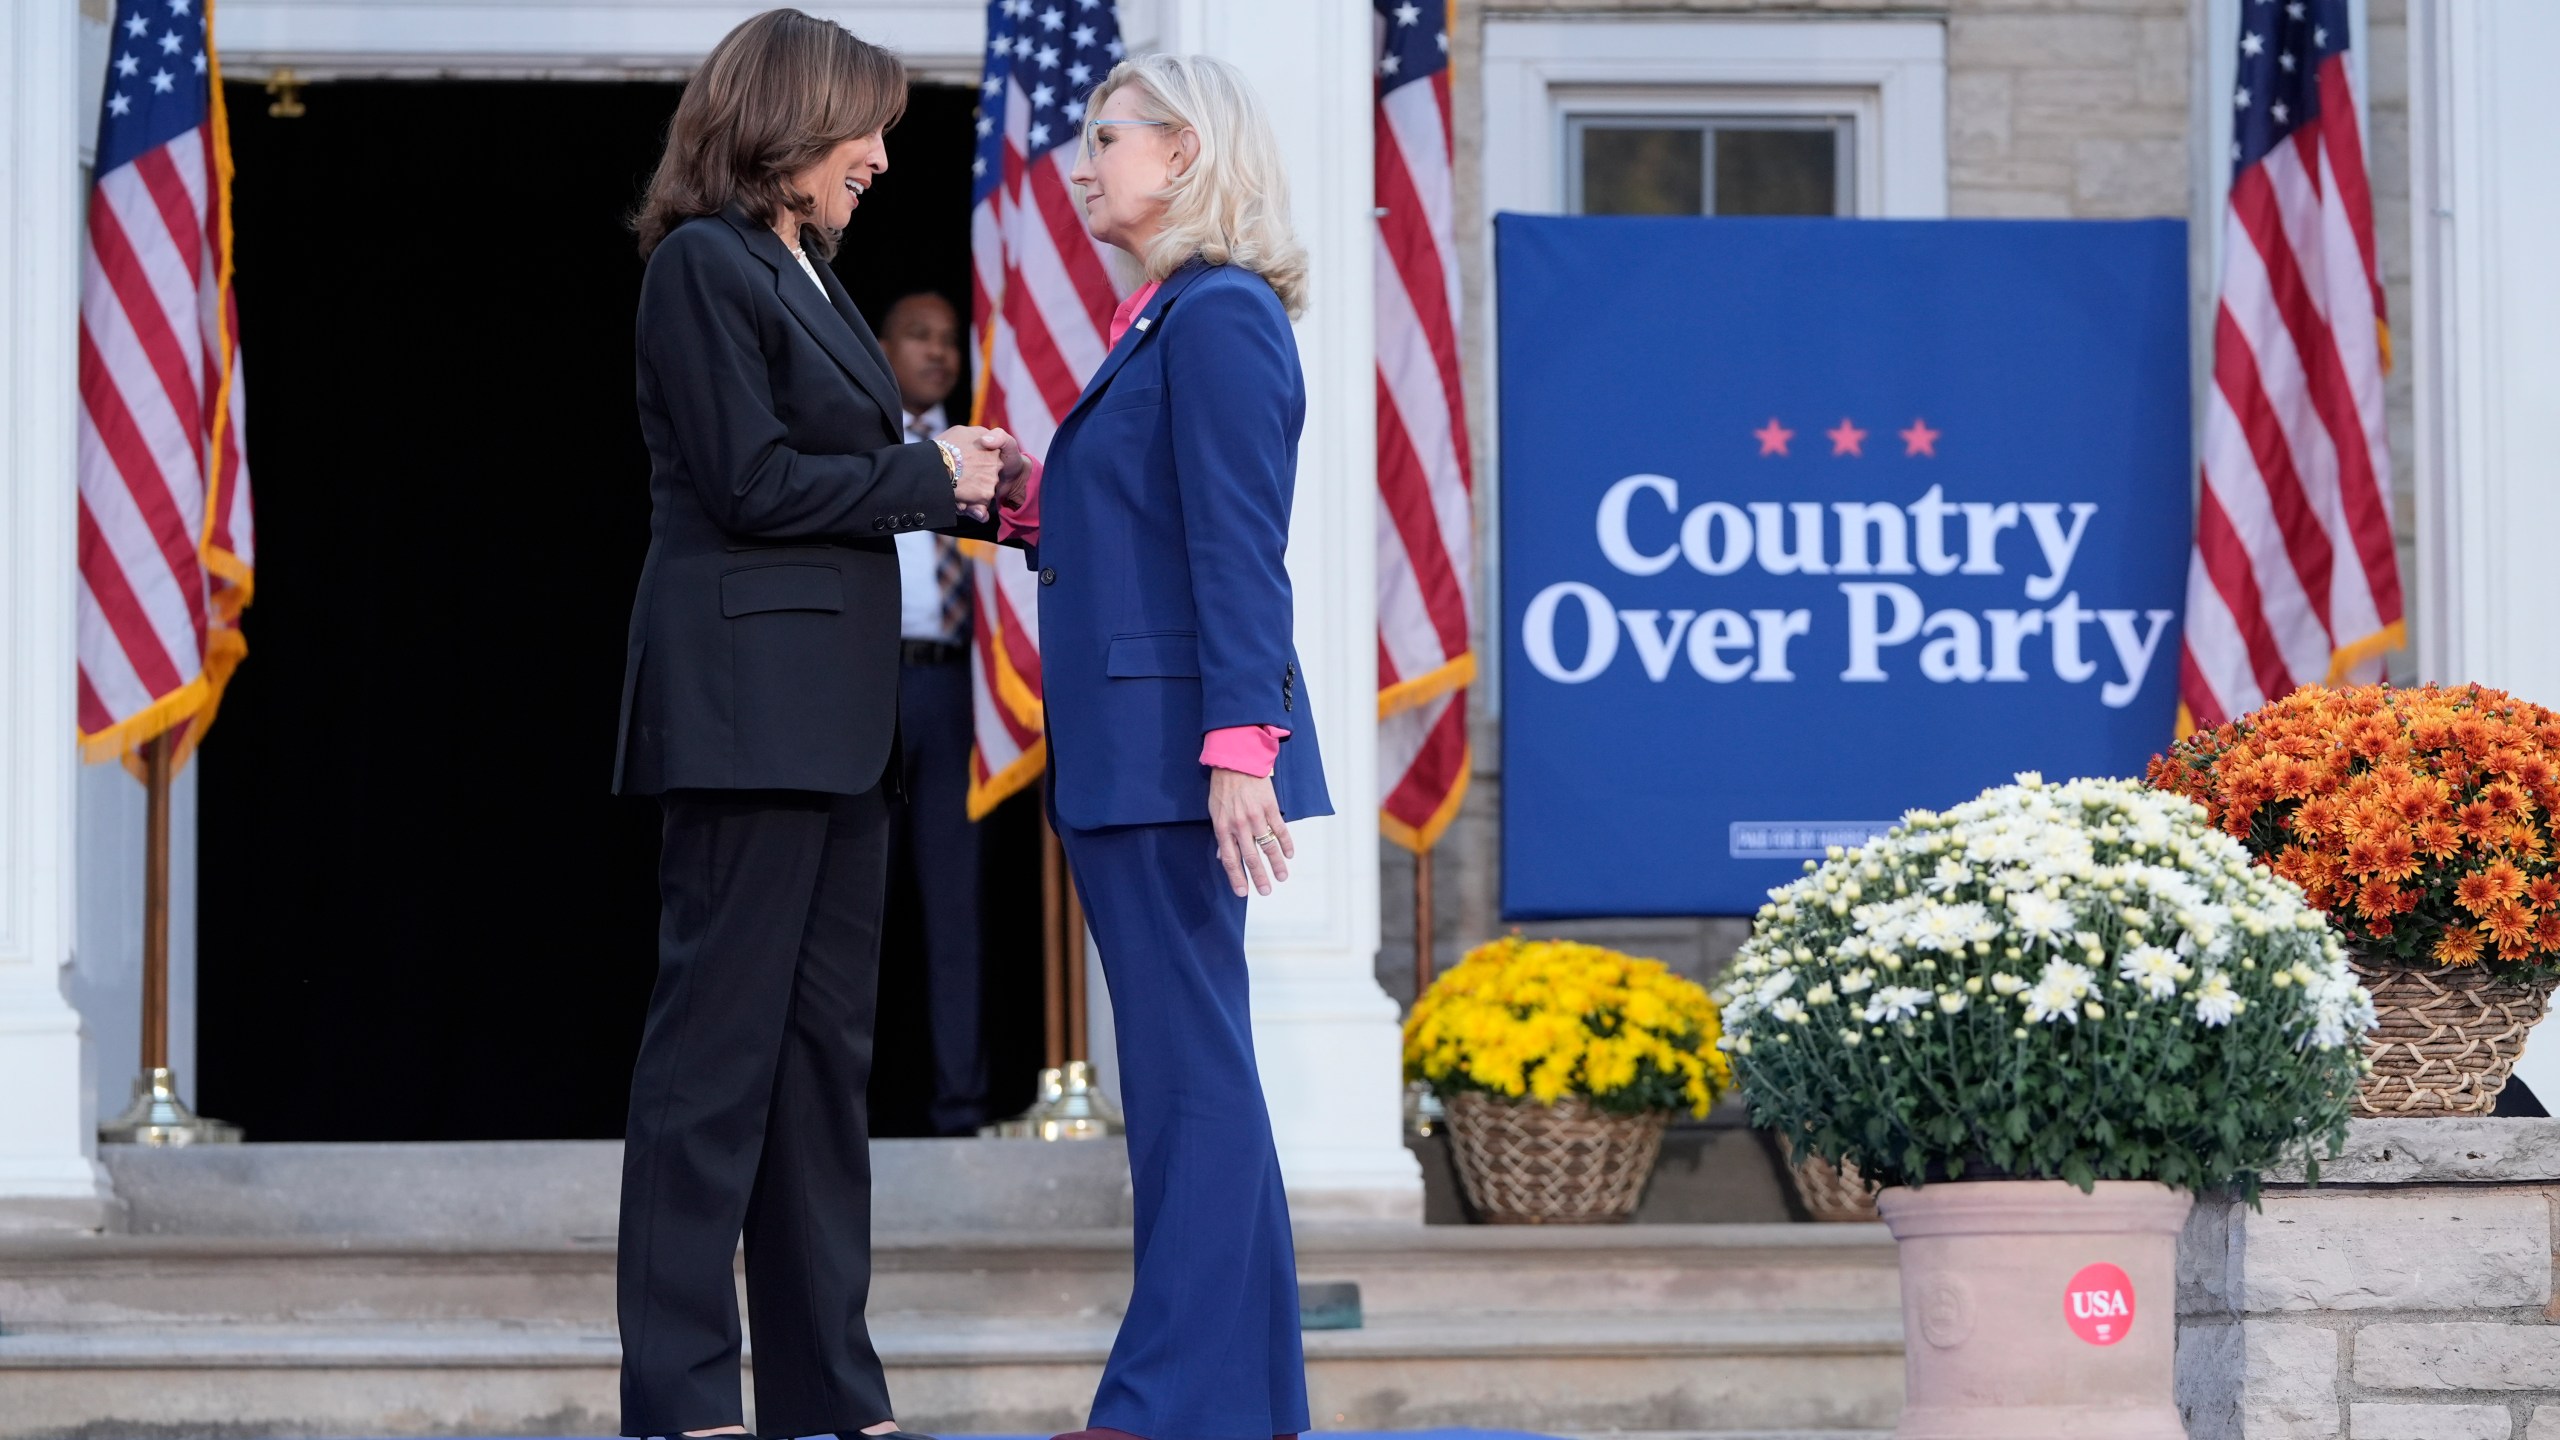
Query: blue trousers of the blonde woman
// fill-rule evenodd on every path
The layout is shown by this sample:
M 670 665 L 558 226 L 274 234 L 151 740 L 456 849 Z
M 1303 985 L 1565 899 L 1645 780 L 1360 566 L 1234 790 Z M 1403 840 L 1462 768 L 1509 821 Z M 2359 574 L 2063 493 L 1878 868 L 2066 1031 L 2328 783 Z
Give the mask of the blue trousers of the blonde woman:
M 1244 899 L 1206 822 L 1060 828 L 1111 1022 L 1137 1284 L 1093 1427 L 1147 1440 L 1298 1435 L 1298 1250 L 1244 981 Z

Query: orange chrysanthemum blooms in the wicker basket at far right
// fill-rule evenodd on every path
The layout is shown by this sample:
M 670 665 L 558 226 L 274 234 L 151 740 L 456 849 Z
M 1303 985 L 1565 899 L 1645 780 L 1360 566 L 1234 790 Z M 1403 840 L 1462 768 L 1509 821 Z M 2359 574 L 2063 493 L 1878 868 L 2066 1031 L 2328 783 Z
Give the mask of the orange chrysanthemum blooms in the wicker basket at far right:
M 2301 687 L 2153 758 L 2258 863 L 2399 961 L 2560 969 L 2560 712 L 2460 687 Z

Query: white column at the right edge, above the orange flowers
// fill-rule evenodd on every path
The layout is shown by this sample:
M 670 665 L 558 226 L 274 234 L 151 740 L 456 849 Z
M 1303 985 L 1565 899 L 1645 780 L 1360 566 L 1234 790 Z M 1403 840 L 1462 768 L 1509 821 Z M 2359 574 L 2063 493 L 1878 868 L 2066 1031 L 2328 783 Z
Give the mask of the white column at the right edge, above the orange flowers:
M 2417 269 L 2417 664 L 2560 707 L 2560 5 L 2422 0 L 2409 15 Z M 2560 1025 L 2516 1074 L 2560 1107 Z

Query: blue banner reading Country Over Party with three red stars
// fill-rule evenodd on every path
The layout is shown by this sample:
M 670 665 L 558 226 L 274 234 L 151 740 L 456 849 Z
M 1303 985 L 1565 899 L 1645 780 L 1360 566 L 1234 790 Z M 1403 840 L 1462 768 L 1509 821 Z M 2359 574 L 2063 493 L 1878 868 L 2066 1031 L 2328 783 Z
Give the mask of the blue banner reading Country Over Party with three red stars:
M 1498 220 L 1503 912 L 1748 915 L 2168 746 L 2179 220 Z

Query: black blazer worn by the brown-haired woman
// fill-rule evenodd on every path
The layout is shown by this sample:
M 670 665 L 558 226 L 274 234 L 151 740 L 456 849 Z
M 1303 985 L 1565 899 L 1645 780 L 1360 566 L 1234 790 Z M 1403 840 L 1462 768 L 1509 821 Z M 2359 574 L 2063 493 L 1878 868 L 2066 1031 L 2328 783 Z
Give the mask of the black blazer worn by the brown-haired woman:
M 640 282 L 650 546 L 622 664 L 614 792 L 860 794 L 899 728 L 899 530 L 968 523 L 835 272 L 740 208 L 686 220 Z

